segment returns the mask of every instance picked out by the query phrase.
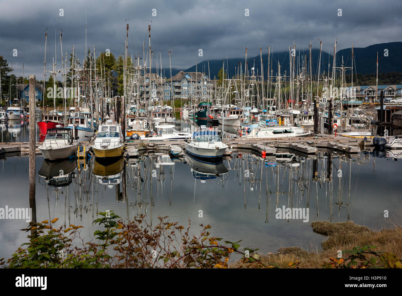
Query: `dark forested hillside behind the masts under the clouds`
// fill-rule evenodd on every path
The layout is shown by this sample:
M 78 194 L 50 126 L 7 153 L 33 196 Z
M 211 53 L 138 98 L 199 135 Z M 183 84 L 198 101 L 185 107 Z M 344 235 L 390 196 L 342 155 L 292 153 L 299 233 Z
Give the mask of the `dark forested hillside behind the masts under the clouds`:
M 297 49 L 297 47 L 296 47 Z M 388 57 L 384 56 L 384 49 L 388 49 Z M 371 46 L 367 46 L 365 48 L 354 48 L 354 58 L 355 64 L 353 65 L 353 72 L 357 71 L 360 74 L 372 74 L 376 72 L 376 61 L 377 61 L 377 51 L 378 51 L 378 72 L 379 73 L 388 73 L 388 72 L 402 72 L 402 42 L 388 42 L 388 43 L 380 43 L 374 44 Z M 300 57 L 300 60 L 303 56 L 307 56 L 307 65 L 310 67 L 309 61 L 309 51 L 308 48 L 298 50 L 296 53 L 297 57 Z M 342 61 L 342 56 L 344 60 L 345 66 L 351 66 L 351 48 L 345 48 L 343 50 L 339 50 L 336 53 L 336 66 L 340 66 Z M 312 71 L 313 74 L 318 72 L 318 58 L 320 56 L 319 49 L 312 50 Z M 281 64 L 281 74 L 285 74 L 285 70 L 287 73 L 289 72 L 289 52 L 274 52 L 271 53 L 271 58 L 273 58 L 274 66 L 273 69 L 274 75 L 277 74 L 278 71 L 278 62 Z M 217 77 L 219 70 L 222 68 L 222 60 L 209 60 L 209 71 L 211 73 L 211 78 Z M 229 77 L 232 77 L 237 72 L 237 67 L 239 62 L 242 63 L 242 69 L 244 74 L 244 57 L 242 58 L 231 58 L 226 61 L 225 59 L 225 68 L 229 66 Z M 330 72 L 332 71 L 332 63 L 333 56 L 328 54 L 328 52 L 322 52 L 321 54 L 321 70 L 320 74 L 325 71 L 328 73 L 328 62 L 330 64 Z M 248 69 L 250 70 L 254 64 L 254 68 L 258 69 L 258 74 L 261 72 L 260 67 L 260 56 L 248 57 L 247 58 Z M 264 65 L 264 76 L 267 76 L 267 68 L 268 68 L 268 53 L 263 54 L 263 65 Z M 197 70 L 205 68 L 205 72 L 208 74 L 208 61 L 203 61 L 197 65 Z M 177 69 L 172 69 L 172 75 L 178 72 Z M 195 72 L 195 65 L 185 69 L 185 72 Z M 165 72 L 166 74 L 166 72 Z M 169 73 L 170 74 L 170 73 Z

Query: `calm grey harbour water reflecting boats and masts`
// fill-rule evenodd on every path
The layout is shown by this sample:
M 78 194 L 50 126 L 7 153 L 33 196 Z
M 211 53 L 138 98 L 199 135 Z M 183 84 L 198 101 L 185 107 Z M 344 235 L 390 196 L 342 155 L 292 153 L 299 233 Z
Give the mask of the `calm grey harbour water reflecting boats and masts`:
M 191 127 L 181 122 L 182 129 Z M 3 140 L 28 141 L 27 124 L 18 126 L 19 138 L 12 130 L 7 135 L 9 126 L 3 128 Z M 242 248 L 263 253 L 286 246 L 316 249 L 326 237 L 312 231 L 312 221 L 351 220 L 379 229 L 388 221 L 384 210 L 389 217 L 400 217 L 402 160 L 396 161 L 392 153 L 401 151 L 352 158 L 319 153 L 316 160 L 289 151 L 267 159 L 234 153 L 215 166 L 154 154 L 106 167 L 93 158 L 78 167 L 76 161 L 49 163 L 37 156 L 37 221 L 57 217 L 56 226 L 84 226 L 81 233 L 87 242 L 100 229 L 92 225 L 96 213 L 114 210 L 123 219 L 145 214 L 154 226 L 158 216 L 169 216 L 183 226 L 190 219 L 192 234 L 199 233 L 198 224 L 210 224 L 212 236 L 242 240 Z M 6 157 L 0 162 L 0 208 L 29 207 L 29 158 Z M 127 194 L 122 192 L 124 176 Z M 308 208 L 309 221 L 276 219 L 275 209 L 283 206 Z M 21 231 L 27 225 L 25 220 L 0 219 L 0 258 L 10 257 L 27 242 L 27 233 Z

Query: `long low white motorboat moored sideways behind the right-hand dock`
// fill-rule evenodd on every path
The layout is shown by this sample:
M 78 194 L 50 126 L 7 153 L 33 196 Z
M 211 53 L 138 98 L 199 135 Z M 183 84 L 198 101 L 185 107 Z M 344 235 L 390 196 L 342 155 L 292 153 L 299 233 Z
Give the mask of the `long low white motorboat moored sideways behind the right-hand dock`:
M 306 137 L 311 135 L 311 130 L 297 126 L 270 126 L 256 127 L 248 135 L 242 135 L 242 138 L 289 138 L 289 137 Z

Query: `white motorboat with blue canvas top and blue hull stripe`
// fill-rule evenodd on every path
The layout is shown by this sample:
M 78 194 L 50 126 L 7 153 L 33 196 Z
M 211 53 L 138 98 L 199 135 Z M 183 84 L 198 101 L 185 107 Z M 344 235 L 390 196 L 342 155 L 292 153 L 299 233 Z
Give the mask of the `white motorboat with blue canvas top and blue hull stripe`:
M 193 132 L 191 140 L 185 143 L 185 148 L 186 154 L 214 161 L 222 159 L 228 145 L 222 143 L 217 132 L 198 131 Z

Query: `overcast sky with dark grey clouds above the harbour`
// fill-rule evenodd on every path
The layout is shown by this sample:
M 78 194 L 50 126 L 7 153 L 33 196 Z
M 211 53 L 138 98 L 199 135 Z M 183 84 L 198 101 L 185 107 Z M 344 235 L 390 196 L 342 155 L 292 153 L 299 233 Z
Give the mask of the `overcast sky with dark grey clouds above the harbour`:
M 55 56 L 61 67 L 59 32 L 63 31 L 63 51 L 77 51 L 85 57 L 85 21 L 87 47 L 95 45 L 97 54 L 109 49 L 115 56 L 124 52 L 126 19 L 129 24 L 129 53 L 148 51 L 148 24 L 151 46 L 161 52 L 162 65 L 186 69 L 196 61 L 244 58 L 259 54 L 260 46 L 275 51 L 313 48 L 323 41 L 326 52 L 366 47 L 375 43 L 401 41 L 402 2 L 400 0 L 350 1 L 236 1 L 236 0 L 150 0 L 150 1 L 5 1 L 0 0 L 0 55 L 12 62 L 14 74 L 37 75 L 43 79 L 45 29 L 48 29 L 47 69 Z M 60 12 L 63 9 L 63 16 Z M 154 10 L 155 9 L 155 10 Z M 341 9 L 342 16 L 339 9 Z M 156 13 L 156 16 L 152 14 Z M 248 16 L 246 16 L 248 14 Z M 13 56 L 13 50 L 17 56 Z M 202 49 L 203 56 L 199 56 Z M 142 55 L 142 54 L 141 54 Z

